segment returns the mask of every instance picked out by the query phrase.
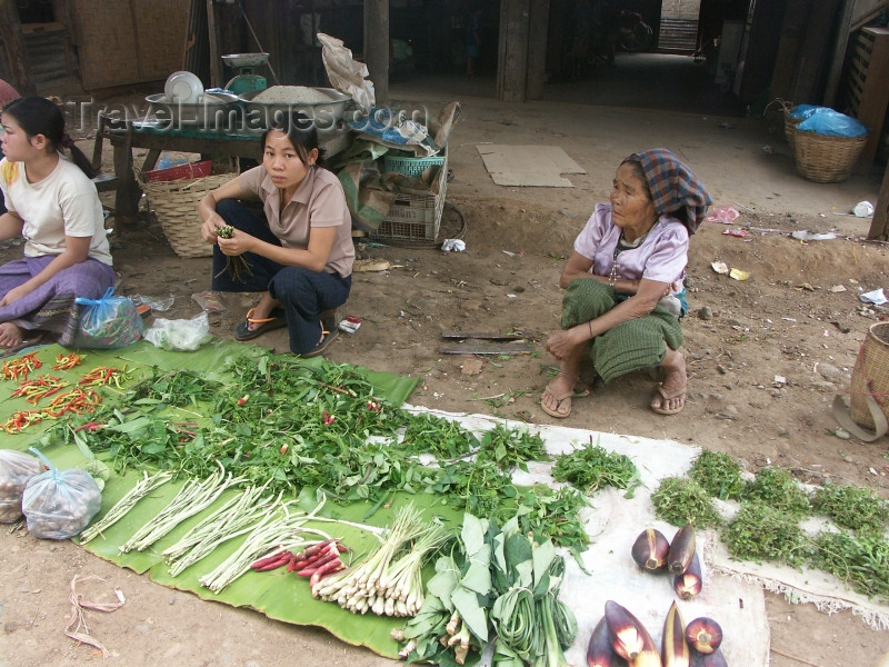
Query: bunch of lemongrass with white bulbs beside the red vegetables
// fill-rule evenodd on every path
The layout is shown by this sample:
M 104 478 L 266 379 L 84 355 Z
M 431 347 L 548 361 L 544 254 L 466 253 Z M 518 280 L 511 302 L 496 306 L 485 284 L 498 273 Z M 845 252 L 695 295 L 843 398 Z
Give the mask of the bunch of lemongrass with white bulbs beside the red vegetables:
M 423 604 L 423 561 L 450 538 L 449 529 L 429 524 L 408 505 L 374 551 L 321 579 L 312 587 L 312 597 L 336 601 L 354 614 L 413 616 Z

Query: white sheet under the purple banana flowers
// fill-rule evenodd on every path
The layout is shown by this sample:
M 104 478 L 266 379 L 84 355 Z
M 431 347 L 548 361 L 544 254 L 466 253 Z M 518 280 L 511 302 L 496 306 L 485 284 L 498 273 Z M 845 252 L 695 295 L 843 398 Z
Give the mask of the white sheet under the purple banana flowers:
M 407 406 L 406 406 L 407 407 Z M 428 408 L 411 408 L 456 419 L 466 428 L 485 431 L 502 419 L 486 415 L 455 415 Z M 672 577 L 653 575 L 637 567 L 630 549 L 637 536 L 646 528 L 657 528 L 667 539 L 672 539 L 677 528 L 655 518 L 651 492 L 665 477 L 685 475 L 700 454 L 697 447 L 688 447 L 671 440 L 652 440 L 616 434 L 602 434 L 586 429 L 546 425 L 507 422 L 510 428 L 527 426 L 531 432 L 543 438 L 547 451 L 565 454 L 585 444 L 592 442 L 609 451 L 630 457 L 639 469 L 642 486 L 633 498 L 625 498 L 622 491 L 606 489 L 592 496 L 592 508 L 586 510 L 587 534 L 592 539 L 583 552 L 583 563 L 592 576 L 585 574 L 573 557 L 566 554 L 566 576 L 560 598 L 575 613 L 578 636 L 566 651 L 571 665 L 585 665 L 587 644 L 592 629 L 605 614 L 606 600 L 627 607 L 651 634 L 660 647 L 663 620 L 673 600 L 682 619 L 688 623 L 699 616 L 716 619 L 725 630 L 722 653 L 729 665 L 763 667 L 769 664 L 769 625 L 766 617 L 766 599 L 762 589 L 750 581 L 733 576 L 723 576 L 709 567 L 713 536 L 699 531 L 697 544 L 703 554 L 701 567 L 705 585 L 701 595 L 692 600 L 681 600 L 672 588 Z M 531 464 L 528 472 L 513 476 L 516 484 L 545 482 L 558 486 L 549 474 L 550 464 Z

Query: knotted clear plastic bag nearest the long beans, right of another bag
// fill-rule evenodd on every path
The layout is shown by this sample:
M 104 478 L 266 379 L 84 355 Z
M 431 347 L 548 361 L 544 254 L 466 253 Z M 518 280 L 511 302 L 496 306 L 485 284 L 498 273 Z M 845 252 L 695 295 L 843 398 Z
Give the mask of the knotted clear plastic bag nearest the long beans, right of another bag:
M 37 449 L 31 452 L 49 468 L 24 487 L 21 510 L 28 530 L 41 539 L 68 539 L 79 534 L 102 506 L 102 492 L 81 468 L 59 470 Z

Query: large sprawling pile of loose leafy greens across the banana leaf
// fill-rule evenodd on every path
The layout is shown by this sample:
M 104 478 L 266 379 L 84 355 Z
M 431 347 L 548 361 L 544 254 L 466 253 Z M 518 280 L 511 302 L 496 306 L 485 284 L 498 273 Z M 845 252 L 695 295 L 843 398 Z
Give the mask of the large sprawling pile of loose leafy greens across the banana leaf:
M 512 469 L 548 460 L 542 438 L 498 425 L 481 435 L 458 421 L 396 408 L 350 365 L 238 357 L 223 384 L 189 370 L 153 369 L 119 407 L 59 420 L 41 445 L 76 444 L 118 472 L 168 470 L 203 479 L 214 461 L 246 485 L 292 496 L 318 489 L 337 502 L 429 494 L 461 511 L 505 521 L 529 507 L 523 528 L 575 550 L 586 547 L 572 490 L 517 487 Z M 420 455 L 434 457 L 434 465 Z M 320 496 L 319 496 L 320 497 Z

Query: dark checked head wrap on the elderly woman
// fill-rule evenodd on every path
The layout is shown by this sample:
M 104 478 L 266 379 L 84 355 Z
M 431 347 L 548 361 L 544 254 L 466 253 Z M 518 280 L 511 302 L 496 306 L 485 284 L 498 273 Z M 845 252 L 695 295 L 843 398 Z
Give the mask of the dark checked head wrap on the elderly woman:
M 630 160 L 641 165 L 658 215 L 676 216 L 695 233 L 712 199 L 691 169 L 666 148 L 632 153 L 625 162 Z

